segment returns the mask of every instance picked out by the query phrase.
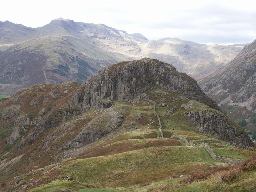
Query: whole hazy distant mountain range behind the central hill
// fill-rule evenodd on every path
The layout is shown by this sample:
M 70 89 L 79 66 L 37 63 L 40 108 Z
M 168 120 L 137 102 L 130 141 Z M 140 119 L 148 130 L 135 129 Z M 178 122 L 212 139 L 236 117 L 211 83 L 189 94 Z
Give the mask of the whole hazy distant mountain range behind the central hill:
M 139 33 L 63 18 L 39 28 L 5 21 L 0 22 L 0 84 L 5 84 L 0 94 L 35 84 L 83 83 L 108 65 L 142 57 L 163 60 L 198 79 L 225 65 L 242 48 L 173 38 L 148 41 Z

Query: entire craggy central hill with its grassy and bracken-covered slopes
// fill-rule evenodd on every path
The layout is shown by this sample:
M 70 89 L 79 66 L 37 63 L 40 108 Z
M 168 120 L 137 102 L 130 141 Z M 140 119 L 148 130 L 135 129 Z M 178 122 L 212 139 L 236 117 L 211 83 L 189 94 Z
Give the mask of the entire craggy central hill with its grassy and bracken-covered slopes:
M 109 66 L 85 84 L 35 85 L 1 99 L 0 108 L 4 191 L 64 178 L 76 190 L 131 187 L 223 165 L 171 135 L 217 140 L 214 152 L 238 162 L 255 154 L 247 133 L 194 79 L 148 58 Z

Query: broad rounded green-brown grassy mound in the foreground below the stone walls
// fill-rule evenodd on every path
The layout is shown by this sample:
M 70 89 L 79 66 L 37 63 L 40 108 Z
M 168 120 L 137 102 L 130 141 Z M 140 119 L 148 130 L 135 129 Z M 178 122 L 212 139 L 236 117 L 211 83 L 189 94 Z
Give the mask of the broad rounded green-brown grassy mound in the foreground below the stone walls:
M 69 161 L 61 176 L 102 187 L 129 187 L 218 166 L 201 147 L 150 147 L 116 155 Z

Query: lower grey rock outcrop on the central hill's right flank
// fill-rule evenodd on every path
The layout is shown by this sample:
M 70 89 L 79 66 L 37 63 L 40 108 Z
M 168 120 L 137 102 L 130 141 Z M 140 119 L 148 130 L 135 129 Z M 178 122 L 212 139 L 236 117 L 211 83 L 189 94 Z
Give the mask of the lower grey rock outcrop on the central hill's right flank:
M 199 132 L 210 133 L 223 141 L 240 143 L 246 146 L 250 145 L 250 138 L 244 129 L 220 111 L 203 109 L 185 112 L 184 114 L 196 124 Z

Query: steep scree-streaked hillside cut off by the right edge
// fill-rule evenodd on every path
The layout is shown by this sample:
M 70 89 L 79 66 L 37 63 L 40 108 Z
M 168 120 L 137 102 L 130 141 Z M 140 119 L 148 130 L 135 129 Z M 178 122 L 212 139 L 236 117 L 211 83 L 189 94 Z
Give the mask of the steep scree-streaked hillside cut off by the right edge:
M 226 67 L 199 81 L 204 92 L 217 100 L 230 117 L 251 130 L 255 130 L 256 121 L 255 72 L 256 40 L 245 46 Z

